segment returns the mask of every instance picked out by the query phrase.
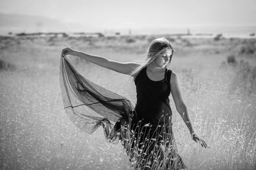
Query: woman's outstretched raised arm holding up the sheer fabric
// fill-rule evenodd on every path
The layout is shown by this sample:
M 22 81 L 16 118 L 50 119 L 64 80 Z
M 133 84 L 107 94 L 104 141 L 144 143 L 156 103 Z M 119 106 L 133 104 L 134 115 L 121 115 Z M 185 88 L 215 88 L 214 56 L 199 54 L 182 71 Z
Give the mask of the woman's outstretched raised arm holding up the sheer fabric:
M 116 62 L 113 60 L 108 60 L 105 57 L 79 52 L 77 50 L 73 50 L 72 48 L 64 48 L 61 55 L 76 55 L 82 59 L 88 60 L 89 62 L 122 74 L 131 74 L 132 71 L 139 66 L 139 64 L 136 62 Z

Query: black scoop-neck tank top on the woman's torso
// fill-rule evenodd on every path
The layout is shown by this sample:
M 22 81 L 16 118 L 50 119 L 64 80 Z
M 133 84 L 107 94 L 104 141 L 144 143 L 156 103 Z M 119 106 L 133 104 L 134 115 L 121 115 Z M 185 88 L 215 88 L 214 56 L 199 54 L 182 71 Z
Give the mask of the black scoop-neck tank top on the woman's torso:
M 161 125 L 171 122 L 172 110 L 170 108 L 170 78 L 172 71 L 165 69 L 164 79 L 150 80 L 147 76 L 147 67 L 143 68 L 134 80 L 137 92 L 132 122 L 140 120 L 143 124 Z

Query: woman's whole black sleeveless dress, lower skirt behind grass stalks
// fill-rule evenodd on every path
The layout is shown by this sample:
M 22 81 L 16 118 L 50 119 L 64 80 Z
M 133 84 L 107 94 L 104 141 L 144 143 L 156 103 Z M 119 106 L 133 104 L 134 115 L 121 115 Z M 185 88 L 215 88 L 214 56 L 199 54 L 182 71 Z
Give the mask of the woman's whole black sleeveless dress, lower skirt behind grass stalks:
M 131 150 L 135 151 L 131 157 L 136 157 L 138 169 L 186 167 L 177 153 L 172 132 L 172 110 L 169 100 L 171 74 L 172 71 L 166 69 L 163 80 L 153 81 L 148 78 L 145 67 L 134 80 L 137 103 L 131 122 L 134 134 Z

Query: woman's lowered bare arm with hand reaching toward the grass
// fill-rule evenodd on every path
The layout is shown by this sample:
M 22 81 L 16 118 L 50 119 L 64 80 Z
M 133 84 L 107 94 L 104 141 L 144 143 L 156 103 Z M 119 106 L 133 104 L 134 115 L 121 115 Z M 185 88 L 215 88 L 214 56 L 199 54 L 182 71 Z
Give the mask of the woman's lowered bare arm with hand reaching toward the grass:
M 186 104 L 184 103 L 182 94 L 180 92 L 179 78 L 176 73 L 172 73 L 170 85 L 171 85 L 172 97 L 173 97 L 173 101 L 175 103 L 176 109 L 180 113 L 180 116 L 182 117 L 186 126 L 188 127 L 192 139 L 196 142 L 200 142 L 204 148 L 207 148 L 208 147 L 207 144 L 205 143 L 205 141 L 203 139 L 201 139 L 196 134 L 196 131 L 193 127 L 193 124 L 189 117 L 188 108 L 187 108 Z

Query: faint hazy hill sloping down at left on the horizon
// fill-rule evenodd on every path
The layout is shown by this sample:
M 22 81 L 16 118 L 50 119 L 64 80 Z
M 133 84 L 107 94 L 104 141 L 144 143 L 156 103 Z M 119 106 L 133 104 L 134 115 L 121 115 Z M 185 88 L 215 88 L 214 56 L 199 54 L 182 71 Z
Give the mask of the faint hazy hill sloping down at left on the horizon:
M 65 23 L 60 20 L 17 14 L 0 13 L 0 34 L 8 32 L 88 32 L 88 29 L 79 23 Z

